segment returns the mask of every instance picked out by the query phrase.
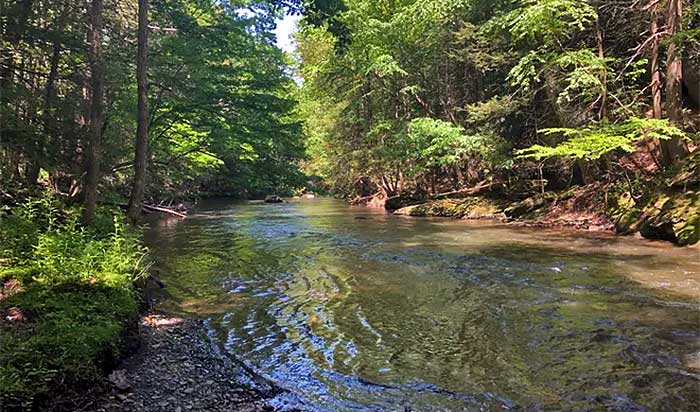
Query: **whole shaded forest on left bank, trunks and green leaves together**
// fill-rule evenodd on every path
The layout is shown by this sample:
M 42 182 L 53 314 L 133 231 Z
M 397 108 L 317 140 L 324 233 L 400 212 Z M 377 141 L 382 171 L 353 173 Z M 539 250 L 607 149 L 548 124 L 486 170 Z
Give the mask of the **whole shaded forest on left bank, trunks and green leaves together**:
M 303 183 L 296 85 L 272 34 L 283 5 L 148 3 L 3 2 L 5 196 L 40 182 L 93 214 L 132 189 L 171 202 Z

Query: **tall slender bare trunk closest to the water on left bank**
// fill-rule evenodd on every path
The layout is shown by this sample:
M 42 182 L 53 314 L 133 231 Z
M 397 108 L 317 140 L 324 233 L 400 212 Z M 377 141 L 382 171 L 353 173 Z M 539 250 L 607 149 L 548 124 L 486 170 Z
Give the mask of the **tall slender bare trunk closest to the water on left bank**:
M 136 58 L 138 83 L 138 125 L 136 127 L 136 156 L 134 158 L 134 184 L 129 199 L 129 217 L 136 221 L 143 207 L 143 193 L 148 168 L 148 0 L 139 0 L 139 36 Z

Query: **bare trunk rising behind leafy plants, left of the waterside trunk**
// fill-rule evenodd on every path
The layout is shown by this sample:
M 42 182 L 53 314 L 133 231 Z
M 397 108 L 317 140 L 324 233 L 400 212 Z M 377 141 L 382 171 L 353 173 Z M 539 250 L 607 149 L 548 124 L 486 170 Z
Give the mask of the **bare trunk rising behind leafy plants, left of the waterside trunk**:
M 92 0 L 88 24 L 88 63 L 90 65 L 90 116 L 88 118 L 88 150 L 85 161 L 85 210 L 83 221 L 91 224 L 97 208 L 97 185 L 100 180 L 102 146 L 102 111 L 104 96 L 104 61 L 102 56 L 103 0 Z

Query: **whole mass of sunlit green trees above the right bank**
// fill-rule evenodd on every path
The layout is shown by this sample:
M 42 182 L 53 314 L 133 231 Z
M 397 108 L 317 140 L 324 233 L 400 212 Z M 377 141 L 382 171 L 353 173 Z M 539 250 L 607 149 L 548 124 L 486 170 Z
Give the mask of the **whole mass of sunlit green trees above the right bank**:
M 520 160 L 595 160 L 682 134 L 644 119 L 648 10 L 589 0 L 344 5 L 333 15 L 346 30 L 342 48 L 311 20 L 297 37 L 305 170 L 342 194 L 435 194 L 492 177 L 514 190 L 534 179 L 565 184 L 571 162 L 534 170 Z M 682 46 L 691 66 L 698 10 L 661 41 Z M 541 129 L 564 142 L 533 146 Z

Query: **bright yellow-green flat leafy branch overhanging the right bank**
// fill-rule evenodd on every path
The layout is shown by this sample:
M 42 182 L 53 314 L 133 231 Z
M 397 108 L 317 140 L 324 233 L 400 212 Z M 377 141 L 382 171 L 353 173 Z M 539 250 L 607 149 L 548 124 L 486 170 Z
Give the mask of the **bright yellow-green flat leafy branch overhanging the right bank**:
M 644 139 L 669 140 L 686 139 L 687 135 L 668 120 L 630 118 L 622 124 L 597 123 L 583 129 L 550 128 L 543 129 L 545 135 L 563 135 L 568 140 L 555 146 L 534 145 L 516 151 L 522 159 L 546 159 L 566 157 L 573 159 L 596 160 L 614 152 L 632 153 L 635 143 Z

